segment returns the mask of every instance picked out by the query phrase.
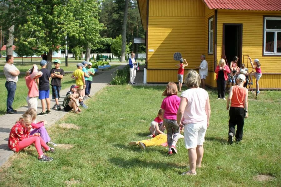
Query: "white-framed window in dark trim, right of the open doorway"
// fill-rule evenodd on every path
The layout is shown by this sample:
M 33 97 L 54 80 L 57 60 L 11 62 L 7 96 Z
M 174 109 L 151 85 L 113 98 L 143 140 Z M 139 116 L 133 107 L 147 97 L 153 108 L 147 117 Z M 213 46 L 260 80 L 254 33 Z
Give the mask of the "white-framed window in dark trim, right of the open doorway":
M 264 55 L 281 55 L 281 17 L 264 17 Z

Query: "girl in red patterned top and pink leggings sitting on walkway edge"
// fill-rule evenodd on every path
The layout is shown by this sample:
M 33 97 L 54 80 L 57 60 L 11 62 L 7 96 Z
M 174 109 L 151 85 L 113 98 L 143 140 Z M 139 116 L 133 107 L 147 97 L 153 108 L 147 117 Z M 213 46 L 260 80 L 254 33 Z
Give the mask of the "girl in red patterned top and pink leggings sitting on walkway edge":
M 17 123 L 12 127 L 8 147 L 15 152 L 24 149 L 31 144 L 35 144 L 38 160 L 39 161 L 52 161 L 52 157 L 48 157 L 43 154 L 41 146 L 45 149 L 45 152 L 55 152 L 54 148 L 46 145 L 43 139 L 40 137 L 40 133 L 29 135 L 31 129 L 32 117 L 29 114 L 23 114 Z

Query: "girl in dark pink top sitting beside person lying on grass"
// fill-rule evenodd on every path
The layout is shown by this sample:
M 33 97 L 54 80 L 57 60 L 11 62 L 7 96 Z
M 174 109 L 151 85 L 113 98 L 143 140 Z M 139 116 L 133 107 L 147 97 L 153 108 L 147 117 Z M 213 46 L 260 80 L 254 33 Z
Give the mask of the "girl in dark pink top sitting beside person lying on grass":
M 150 123 L 149 131 L 150 135 L 147 137 L 155 137 L 158 134 L 165 134 L 165 126 L 163 125 L 163 109 L 158 111 L 157 117 Z

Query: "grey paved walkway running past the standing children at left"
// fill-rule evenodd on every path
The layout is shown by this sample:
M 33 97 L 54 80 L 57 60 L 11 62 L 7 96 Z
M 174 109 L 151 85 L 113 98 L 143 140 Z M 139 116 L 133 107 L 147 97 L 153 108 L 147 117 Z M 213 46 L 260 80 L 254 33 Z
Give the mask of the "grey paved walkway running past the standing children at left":
M 108 71 L 102 71 L 102 73 L 93 77 L 93 83 L 91 86 L 91 95 L 94 95 L 96 92 L 104 88 L 111 81 L 111 74 L 118 68 L 123 69 L 125 65 L 120 65 L 116 68 L 110 69 Z M 143 72 L 142 72 L 143 73 Z M 69 91 L 69 88 L 61 90 L 60 94 L 62 98 L 59 100 L 59 103 L 62 105 L 63 96 Z M 52 97 L 51 97 L 52 98 Z M 51 108 L 55 104 L 54 100 L 51 99 Z M 38 99 L 38 112 L 41 112 L 41 101 Z M 8 148 L 8 137 L 12 126 L 15 124 L 17 119 L 27 110 L 27 106 L 17 109 L 17 114 L 5 114 L 0 116 L 0 166 L 13 155 L 13 151 Z M 54 124 L 56 121 L 61 119 L 67 112 L 63 110 L 57 111 L 52 110 L 52 114 L 47 114 L 47 116 L 37 116 L 37 121 L 43 119 L 47 120 L 48 126 Z

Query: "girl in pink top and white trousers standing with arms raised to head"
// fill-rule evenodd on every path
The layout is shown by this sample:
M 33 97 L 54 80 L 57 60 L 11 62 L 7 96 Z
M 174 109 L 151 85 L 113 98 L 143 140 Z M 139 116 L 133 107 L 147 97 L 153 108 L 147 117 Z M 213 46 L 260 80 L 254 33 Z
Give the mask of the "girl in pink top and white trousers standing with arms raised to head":
M 38 71 L 36 64 L 25 73 L 25 83 L 28 88 L 28 94 L 26 97 L 26 102 L 29 108 L 34 108 L 37 111 L 37 97 L 39 96 L 39 91 L 36 83 L 36 79 L 42 76 L 42 72 Z

